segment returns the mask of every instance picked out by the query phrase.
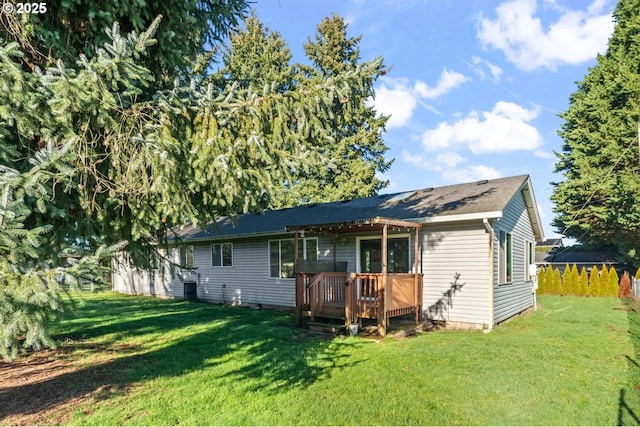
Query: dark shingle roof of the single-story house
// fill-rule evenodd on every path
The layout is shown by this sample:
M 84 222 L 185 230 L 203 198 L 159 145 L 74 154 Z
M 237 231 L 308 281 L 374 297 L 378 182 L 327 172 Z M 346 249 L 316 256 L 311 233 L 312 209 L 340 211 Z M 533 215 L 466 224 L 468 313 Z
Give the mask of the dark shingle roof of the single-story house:
M 528 181 L 528 175 L 424 188 L 362 199 L 298 206 L 244 214 L 217 221 L 206 230 L 186 226 L 177 230 L 185 240 L 248 237 L 284 233 L 287 226 L 335 224 L 376 217 L 417 219 L 501 211 Z

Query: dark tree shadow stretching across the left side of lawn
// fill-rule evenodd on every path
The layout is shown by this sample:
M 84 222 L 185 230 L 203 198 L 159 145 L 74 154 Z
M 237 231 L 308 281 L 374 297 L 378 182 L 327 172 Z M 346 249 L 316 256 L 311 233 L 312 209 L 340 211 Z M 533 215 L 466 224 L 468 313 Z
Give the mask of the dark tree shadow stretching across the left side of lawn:
M 62 370 L 40 382 L 0 385 L 0 420 L 39 413 L 91 394 L 106 399 L 136 383 L 219 366 L 224 368 L 220 375 L 214 372 L 214 387 L 231 382 L 237 386 L 246 380 L 247 392 L 305 388 L 331 376 L 335 368 L 357 363 L 341 354 L 341 347 L 362 345 L 292 328 L 288 313 L 183 301 L 131 301 L 90 301 L 82 310 L 87 316 L 75 319 L 76 326 L 58 336 L 66 344 L 56 357 L 73 359 L 74 352 L 89 351 L 104 361 Z M 91 326 L 92 322 L 100 324 Z M 224 364 L 232 358 L 237 363 L 229 369 Z M 2 370 L 0 364 L 0 374 Z

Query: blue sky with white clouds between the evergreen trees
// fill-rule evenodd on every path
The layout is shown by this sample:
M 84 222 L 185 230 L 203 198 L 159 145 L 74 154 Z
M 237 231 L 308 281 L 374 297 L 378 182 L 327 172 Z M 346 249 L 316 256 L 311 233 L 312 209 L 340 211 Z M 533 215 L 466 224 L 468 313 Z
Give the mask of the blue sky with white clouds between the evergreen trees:
M 382 56 L 374 106 L 395 161 L 383 193 L 529 174 L 546 237 L 558 114 L 613 31 L 615 0 L 257 0 L 258 18 L 302 44 L 335 12 Z

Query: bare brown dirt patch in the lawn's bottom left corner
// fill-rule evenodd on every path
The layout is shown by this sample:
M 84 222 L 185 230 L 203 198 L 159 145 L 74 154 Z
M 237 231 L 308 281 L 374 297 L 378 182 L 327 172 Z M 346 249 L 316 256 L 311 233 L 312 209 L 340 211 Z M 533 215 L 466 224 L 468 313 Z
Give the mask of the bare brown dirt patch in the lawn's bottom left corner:
M 0 362 L 0 425 L 63 424 L 72 408 L 109 393 L 108 361 L 86 366 L 70 350 L 67 344 Z

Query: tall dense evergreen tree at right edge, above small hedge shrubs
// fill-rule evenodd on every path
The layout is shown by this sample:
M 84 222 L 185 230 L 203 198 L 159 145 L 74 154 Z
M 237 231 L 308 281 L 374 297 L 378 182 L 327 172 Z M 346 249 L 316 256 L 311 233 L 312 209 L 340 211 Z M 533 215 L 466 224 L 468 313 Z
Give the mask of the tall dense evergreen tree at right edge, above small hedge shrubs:
M 554 225 L 594 246 L 612 245 L 631 261 L 640 247 L 640 0 L 620 0 L 604 55 L 589 70 L 561 117 Z

